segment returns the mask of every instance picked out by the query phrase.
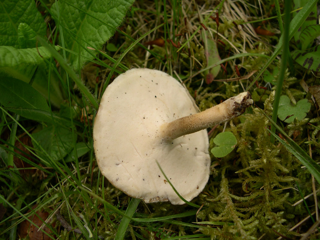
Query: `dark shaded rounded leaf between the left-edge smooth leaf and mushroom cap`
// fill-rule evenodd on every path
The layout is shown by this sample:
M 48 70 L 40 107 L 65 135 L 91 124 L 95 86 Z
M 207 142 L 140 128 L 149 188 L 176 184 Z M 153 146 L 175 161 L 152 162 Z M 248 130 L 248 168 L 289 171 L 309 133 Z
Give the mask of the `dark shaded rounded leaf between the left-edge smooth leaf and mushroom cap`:
M 32 133 L 34 139 L 54 159 L 65 157 L 73 148 L 72 132 L 62 126 L 44 126 L 39 132 Z M 36 146 L 36 144 L 34 144 Z

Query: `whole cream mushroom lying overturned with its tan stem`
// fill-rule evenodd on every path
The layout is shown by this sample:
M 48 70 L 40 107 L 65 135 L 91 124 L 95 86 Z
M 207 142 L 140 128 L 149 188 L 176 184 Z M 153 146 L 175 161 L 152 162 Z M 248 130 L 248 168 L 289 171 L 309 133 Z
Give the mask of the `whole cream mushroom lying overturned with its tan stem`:
M 104 92 L 93 126 L 101 173 L 127 195 L 146 203 L 184 204 L 209 178 L 206 128 L 252 105 L 243 92 L 199 113 L 189 92 L 172 76 L 146 68 L 120 74 Z

